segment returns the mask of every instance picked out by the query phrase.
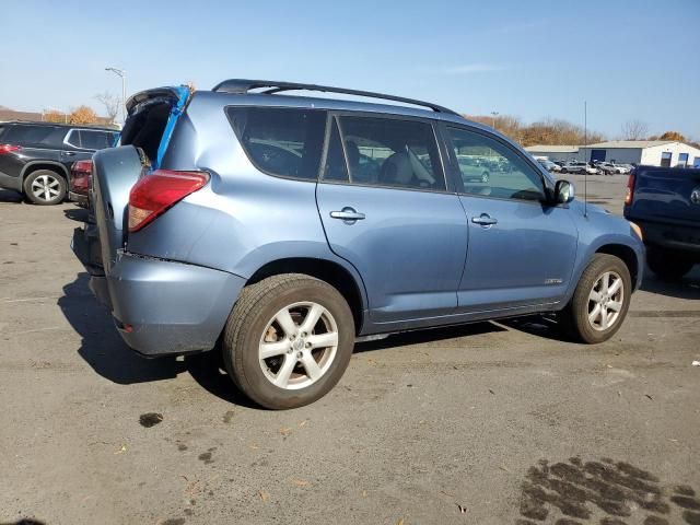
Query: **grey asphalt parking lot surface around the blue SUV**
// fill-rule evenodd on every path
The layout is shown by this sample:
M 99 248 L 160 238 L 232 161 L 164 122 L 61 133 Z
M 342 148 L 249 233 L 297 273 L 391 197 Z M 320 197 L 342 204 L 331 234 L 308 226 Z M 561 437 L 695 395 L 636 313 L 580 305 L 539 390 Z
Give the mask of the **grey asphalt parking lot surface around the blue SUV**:
M 588 201 L 621 214 L 626 180 Z M 83 214 L 0 191 L 0 523 L 700 523 L 699 267 L 648 273 L 606 343 L 538 317 L 392 336 L 273 412 L 207 355 L 126 348 Z

